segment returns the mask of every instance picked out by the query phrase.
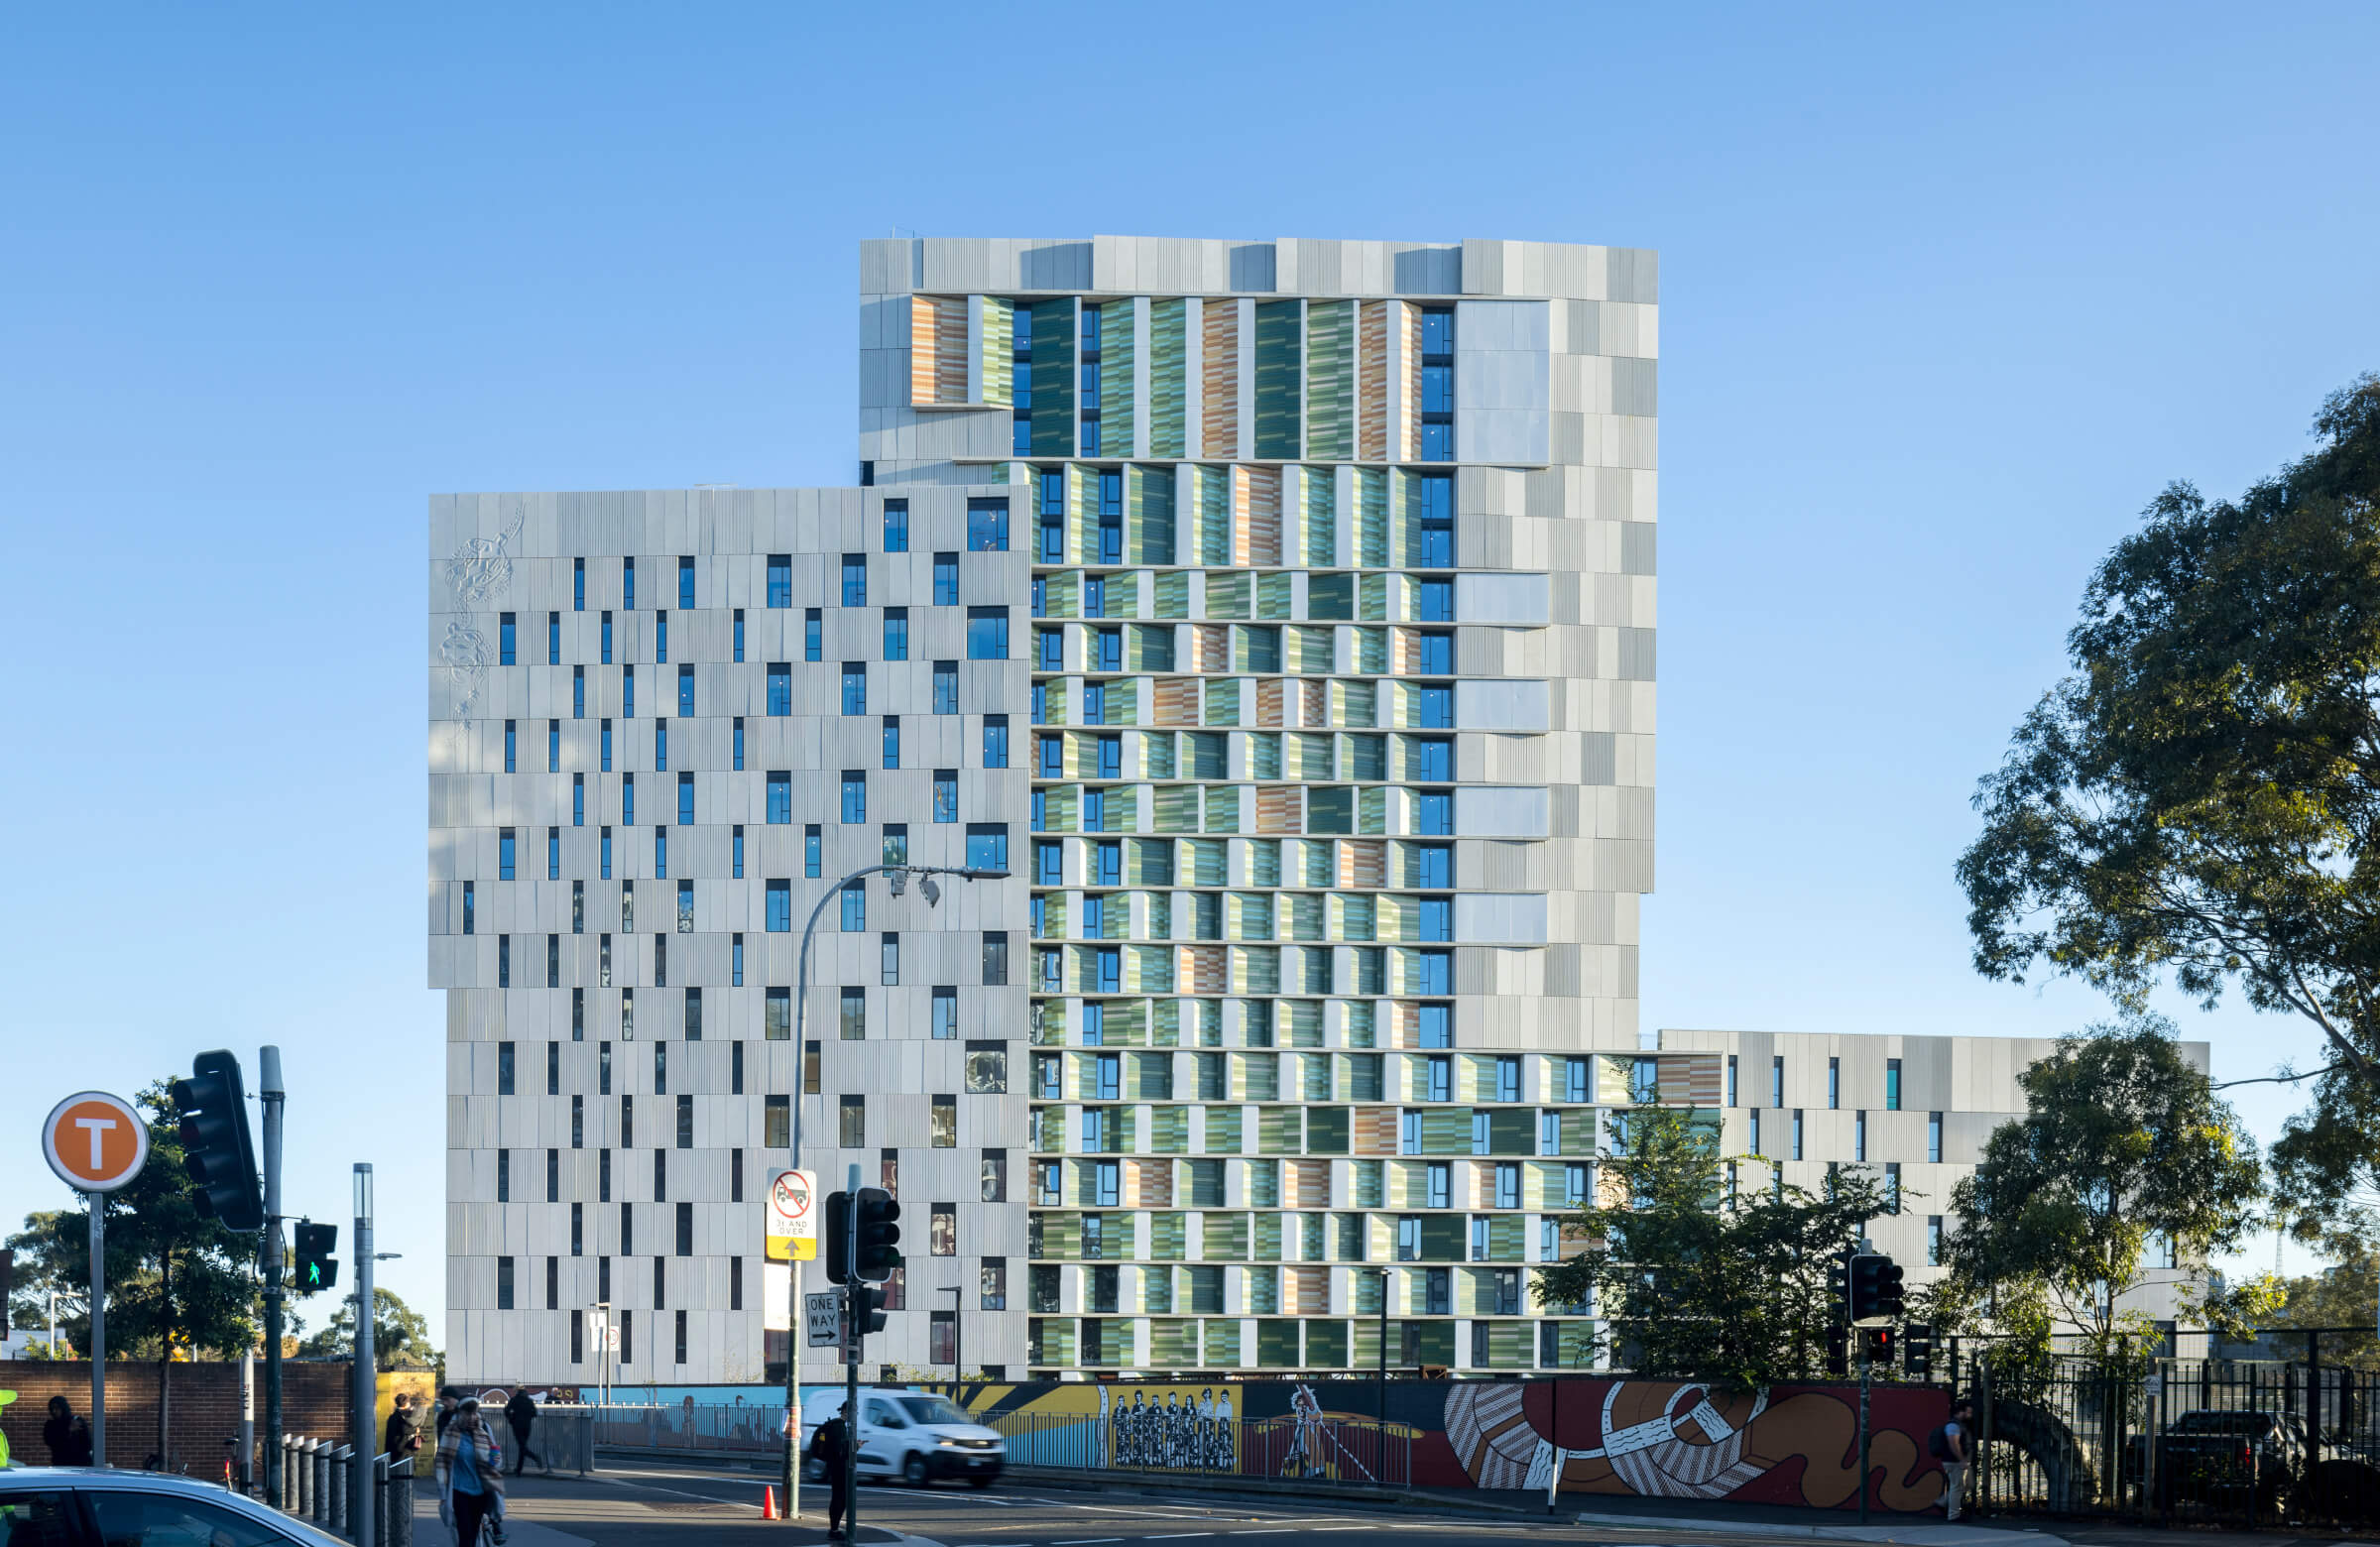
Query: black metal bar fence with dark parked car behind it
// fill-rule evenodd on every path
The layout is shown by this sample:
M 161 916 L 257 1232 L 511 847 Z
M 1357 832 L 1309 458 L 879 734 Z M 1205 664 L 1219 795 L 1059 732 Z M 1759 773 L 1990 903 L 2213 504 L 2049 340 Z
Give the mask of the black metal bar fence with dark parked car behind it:
M 2380 1521 L 2380 1371 L 2306 1359 L 1968 1361 L 1975 1504 L 2147 1523 Z

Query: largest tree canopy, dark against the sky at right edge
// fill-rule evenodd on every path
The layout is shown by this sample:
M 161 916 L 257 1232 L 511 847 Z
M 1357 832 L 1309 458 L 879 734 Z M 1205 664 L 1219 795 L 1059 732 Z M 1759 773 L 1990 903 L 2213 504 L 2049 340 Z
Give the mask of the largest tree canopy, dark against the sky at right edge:
M 2380 376 L 2313 431 L 2240 500 L 2171 486 L 2109 552 L 1959 859 L 1987 976 L 2137 1009 L 2171 973 L 2323 1031 L 2275 1145 L 2306 1233 L 2380 1178 Z

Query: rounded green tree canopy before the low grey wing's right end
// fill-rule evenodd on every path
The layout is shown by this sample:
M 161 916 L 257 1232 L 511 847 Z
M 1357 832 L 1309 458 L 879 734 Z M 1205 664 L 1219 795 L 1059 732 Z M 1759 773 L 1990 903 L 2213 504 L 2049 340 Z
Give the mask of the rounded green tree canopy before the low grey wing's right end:
M 2159 1016 L 2063 1038 L 2018 1081 L 2025 1116 L 1992 1130 L 1952 1192 L 1944 1295 L 1990 1304 L 2004 1330 L 2066 1323 L 2106 1352 L 2149 1330 L 2121 1302 L 2152 1238 L 2197 1264 L 2247 1233 L 2256 1147 Z M 2218 1299 L 2194 1309 L 2228 1319 Z

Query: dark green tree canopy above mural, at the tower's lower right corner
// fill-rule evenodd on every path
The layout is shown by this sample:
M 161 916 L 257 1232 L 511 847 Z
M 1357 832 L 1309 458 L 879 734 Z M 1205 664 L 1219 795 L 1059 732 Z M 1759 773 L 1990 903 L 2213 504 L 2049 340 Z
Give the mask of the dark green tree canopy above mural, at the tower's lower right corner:
M 1835 1257 L 1892 1209 L 1871 1171 L 1844 1169 L 1823 1195 L 1778 1185 L 1768 1161 L 1726 1159 L 1718 1130 L 1673 1107 L 1614 1114 L 1597 1171 L 1606 1202 L 1564 1221 L 1583 1250 L 1537 1269 L 1537 1304 L 1592 1304 L 1599 1352 L 1645 1376 L 1823 1376 Z

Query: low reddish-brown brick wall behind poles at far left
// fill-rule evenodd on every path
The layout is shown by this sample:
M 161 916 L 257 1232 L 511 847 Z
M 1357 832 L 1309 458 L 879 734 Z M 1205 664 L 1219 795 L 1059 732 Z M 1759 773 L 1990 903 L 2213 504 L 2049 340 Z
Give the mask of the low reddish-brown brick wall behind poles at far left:
M 347 1435 L 347 1366 L 283 1364 L 281 1428 L 290 1435 L 340 1440 Z M 171 1471 L 221 1476 L 231 1449 L 226 1435 L 240 1433 L 238 1361 L 198 1361 L 174 1366 L 174 1423 L 167 1435 Z M 48 1359 L 0 1359 L 0 1392 L 14 1390 L 17 1402 L 0 1407 L 0 1433 L 10 1459 L 19 1466 L 43 1466 L 50 1447 L 40 1426 L 50 1416 L 50 1397 L 64 1397 L 83 1418 L 90 1416 L 90 1364 Z M 257 1361 L 257 1428 L 264 1428 L 264 1364 Z M 157 1366 L 150 1361 L 107 1364 L 107 1461 L 140 1466 L 157 1449 Z

